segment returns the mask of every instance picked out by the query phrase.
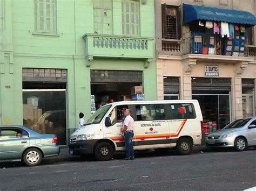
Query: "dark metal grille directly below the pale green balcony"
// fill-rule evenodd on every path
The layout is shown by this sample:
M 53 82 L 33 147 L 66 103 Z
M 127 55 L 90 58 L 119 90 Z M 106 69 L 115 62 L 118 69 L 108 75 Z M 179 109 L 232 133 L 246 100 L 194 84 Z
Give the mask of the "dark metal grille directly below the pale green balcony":
M 127 70 L 91 70 L 91 83 L 120 83 L 138 82 L 142 83 L 141 71 Z

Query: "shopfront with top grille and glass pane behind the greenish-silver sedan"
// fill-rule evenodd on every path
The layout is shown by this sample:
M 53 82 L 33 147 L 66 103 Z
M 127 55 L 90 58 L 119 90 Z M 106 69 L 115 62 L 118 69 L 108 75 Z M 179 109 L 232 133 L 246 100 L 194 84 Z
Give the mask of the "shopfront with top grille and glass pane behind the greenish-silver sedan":
M 23 68 L 23 125 L 66 145 L 65 69 Z

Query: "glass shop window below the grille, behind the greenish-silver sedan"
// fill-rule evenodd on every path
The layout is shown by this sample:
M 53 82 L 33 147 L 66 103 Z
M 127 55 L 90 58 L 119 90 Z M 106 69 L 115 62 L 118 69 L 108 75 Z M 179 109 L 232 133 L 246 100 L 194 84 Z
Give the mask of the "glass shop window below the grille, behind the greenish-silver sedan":
M 40 133 L 55 134 L 66 145 L 66 91 L 23 89 L 23 125 Z

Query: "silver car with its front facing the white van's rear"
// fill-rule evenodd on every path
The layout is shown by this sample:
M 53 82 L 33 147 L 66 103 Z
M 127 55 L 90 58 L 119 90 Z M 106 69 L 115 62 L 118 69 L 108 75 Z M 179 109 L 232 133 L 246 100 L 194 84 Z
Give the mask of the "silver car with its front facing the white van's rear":
M 237 151 L 256 146 L 256 117 L 238 119 L 206 137 L 207 147 L 234 147 Z

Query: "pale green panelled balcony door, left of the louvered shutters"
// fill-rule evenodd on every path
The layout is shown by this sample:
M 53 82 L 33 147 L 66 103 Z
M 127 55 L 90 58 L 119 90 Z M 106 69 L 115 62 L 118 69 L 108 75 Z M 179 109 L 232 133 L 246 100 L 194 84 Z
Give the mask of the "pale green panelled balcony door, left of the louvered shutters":
M 98 34 L 113 34 L 112 0 L 93 1 L 93 25 Z

